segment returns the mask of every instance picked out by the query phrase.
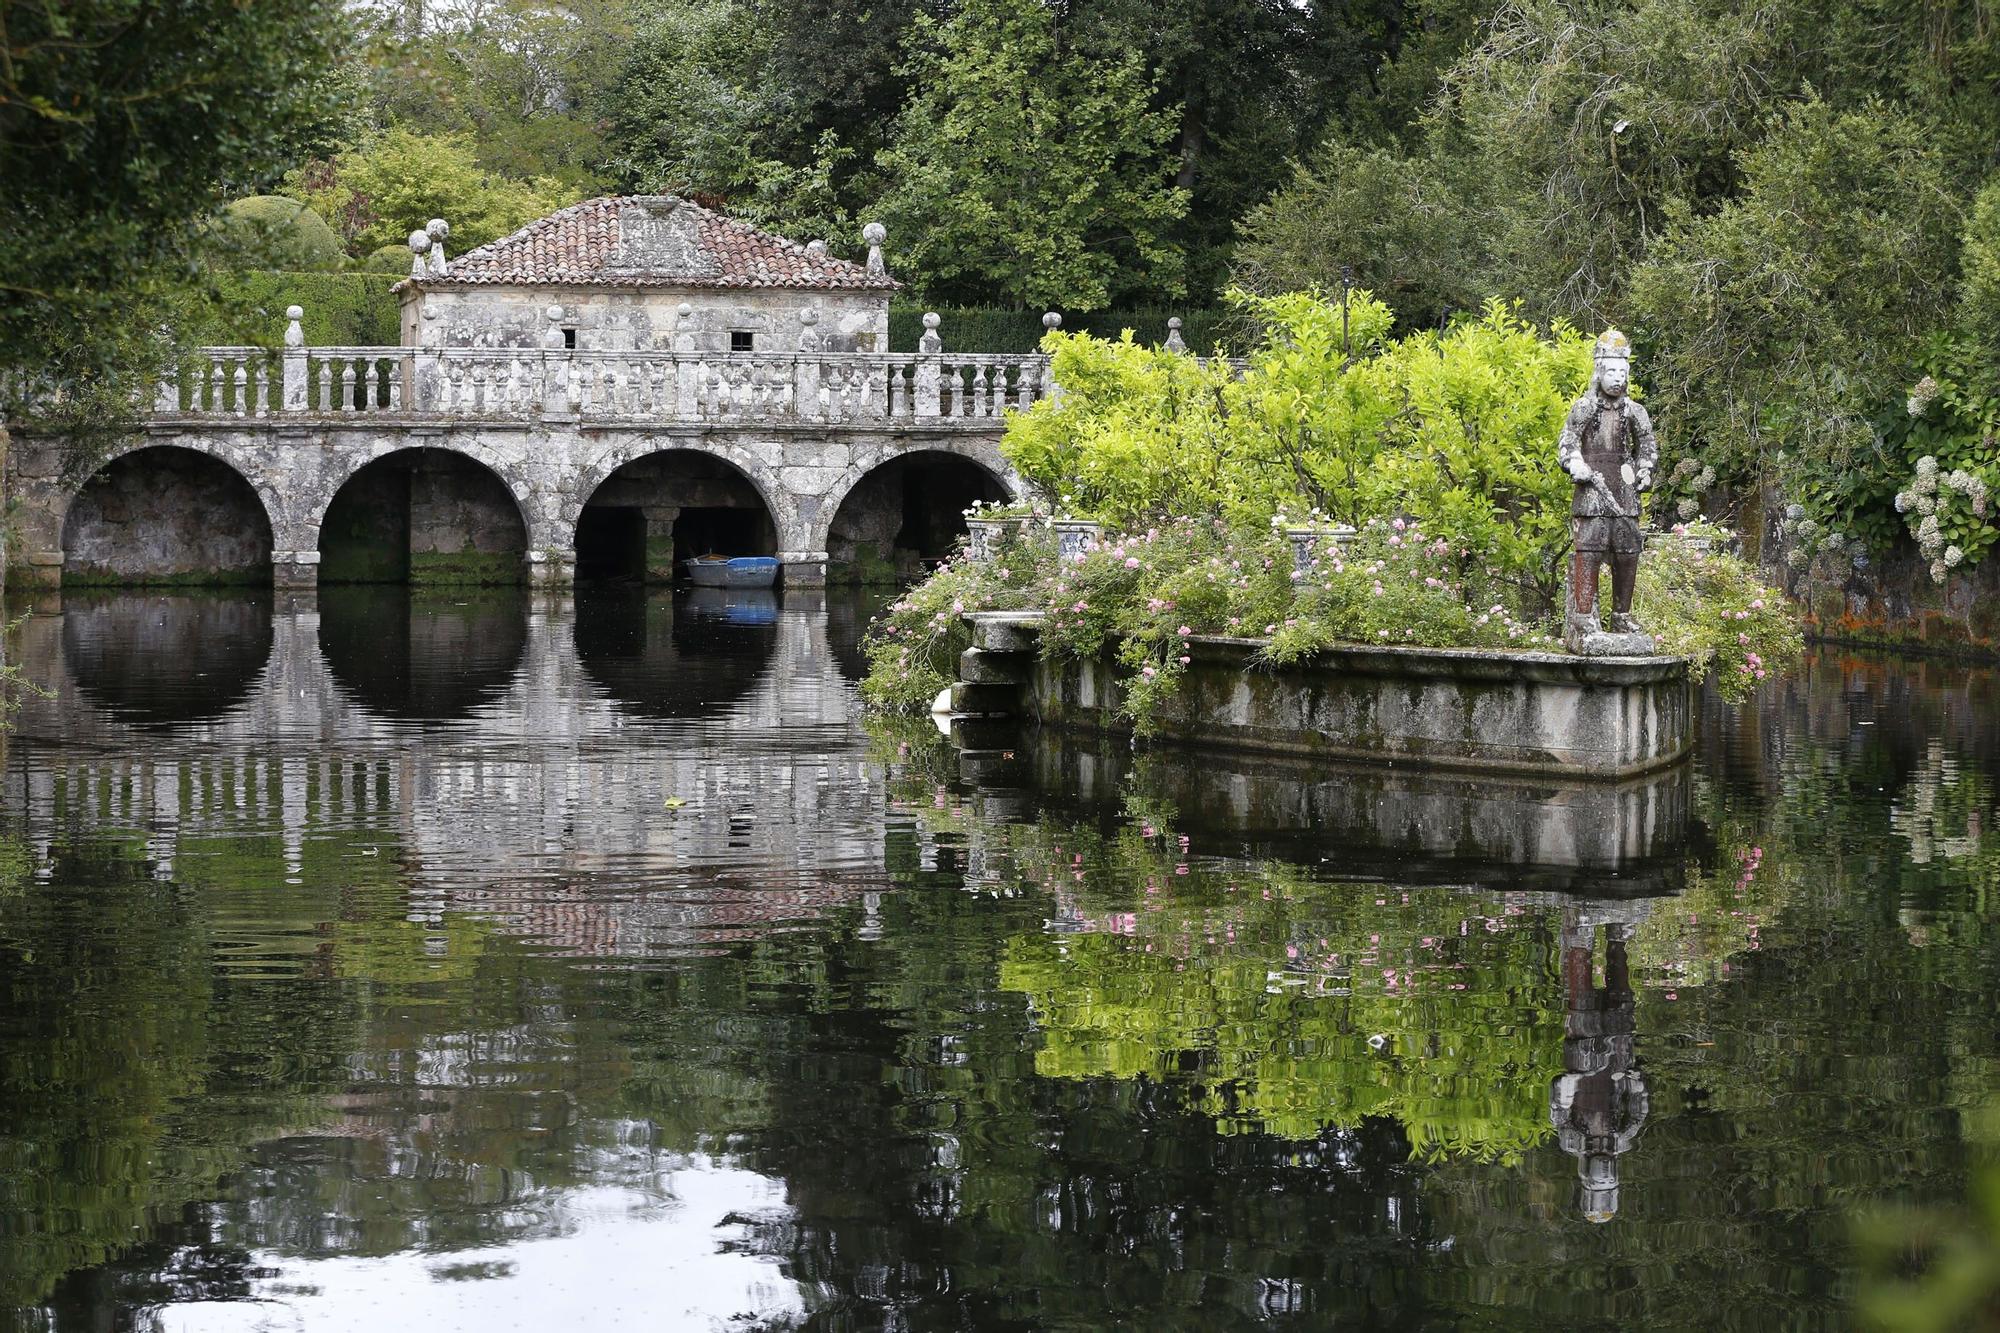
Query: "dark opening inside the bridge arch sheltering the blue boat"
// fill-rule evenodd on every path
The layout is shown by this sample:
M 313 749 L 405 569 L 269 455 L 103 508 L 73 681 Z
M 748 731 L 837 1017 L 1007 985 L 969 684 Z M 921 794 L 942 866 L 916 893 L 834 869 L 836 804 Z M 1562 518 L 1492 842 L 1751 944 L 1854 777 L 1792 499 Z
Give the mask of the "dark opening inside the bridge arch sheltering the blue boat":
M 672 582 L 682 560 L 778 552 L 756 484 L 714 454 L 672 448 L 634 458 L 576 518 L 576 578 Z

